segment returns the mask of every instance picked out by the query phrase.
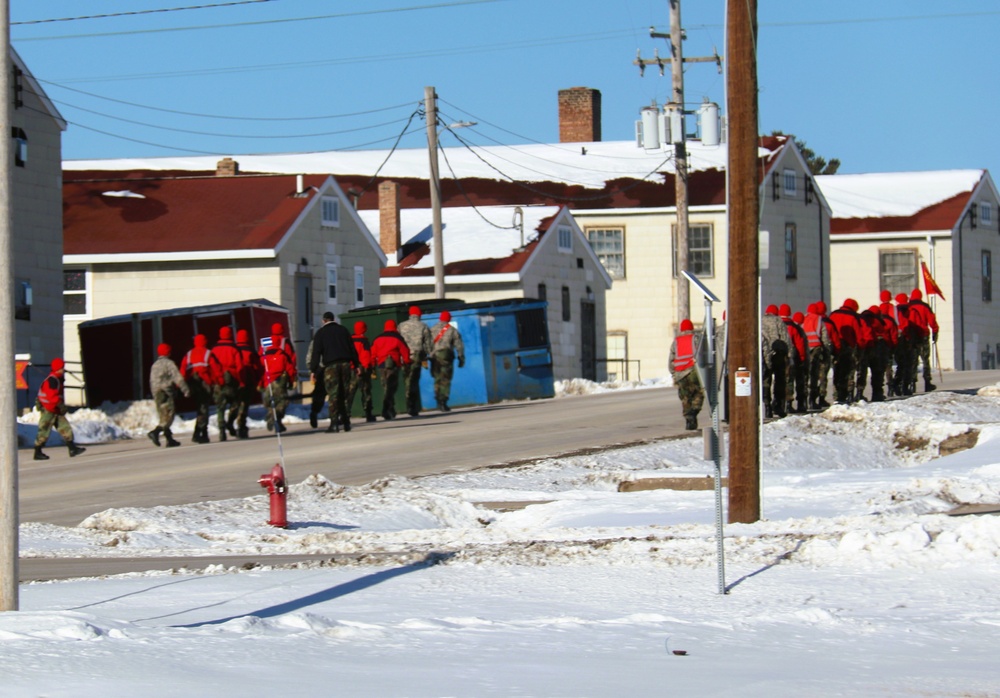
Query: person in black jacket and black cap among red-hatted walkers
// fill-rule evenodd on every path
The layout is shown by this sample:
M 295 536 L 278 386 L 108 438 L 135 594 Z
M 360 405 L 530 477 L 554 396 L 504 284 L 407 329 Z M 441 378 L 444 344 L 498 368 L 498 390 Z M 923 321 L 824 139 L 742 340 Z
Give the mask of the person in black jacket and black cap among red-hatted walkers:
M 347 410 L 347 388 L 351 374 L 358 369 L 360 361 L 354 348 L 354 339 L 347 328 L 337 323 L 333 313 L 323 313 L 323 326 L 313 336 L 312 356 L 309 371 L 312 380 L 322 377 L 330 400 L 330 426 L 328 433 L 351 430 L 351 414 Z

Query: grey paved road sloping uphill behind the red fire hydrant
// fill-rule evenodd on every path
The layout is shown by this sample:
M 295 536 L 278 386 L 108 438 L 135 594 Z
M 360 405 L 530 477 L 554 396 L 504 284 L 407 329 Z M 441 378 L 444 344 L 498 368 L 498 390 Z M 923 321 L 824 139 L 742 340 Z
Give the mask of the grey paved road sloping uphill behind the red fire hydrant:
M 290 482 L 321 473 L 357 485 L 391 474 L 412 477 L 641 443 L 684 430 L 672 388 L 434 411 L 362 422 L 349 434 L 327 434 L 325 424 L 320 427 L 291 425 L 282 435 Z M 245 441 L 182 443 L 171 449 L 157 449 L 144 438 L 94 444 L 73 459 L 65 449 L 51 448 L 51 460 L 43 462 L 21 450 L 21 521 L 76 525 L 109 507 L 260 494 L 257 479 L 279 460 L 278 439 L 263 429 Z

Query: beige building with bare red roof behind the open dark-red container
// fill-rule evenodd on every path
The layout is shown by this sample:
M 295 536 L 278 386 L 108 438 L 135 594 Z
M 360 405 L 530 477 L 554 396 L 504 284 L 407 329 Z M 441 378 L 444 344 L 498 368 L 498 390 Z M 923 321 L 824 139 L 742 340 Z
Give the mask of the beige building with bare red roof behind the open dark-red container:
M 67 360 L 83 320 L 265 298 L 291 311 L 301 370 L 324 311 L 379 302 L 386 257 L 333 178 L 237 170 L 67 176 Z

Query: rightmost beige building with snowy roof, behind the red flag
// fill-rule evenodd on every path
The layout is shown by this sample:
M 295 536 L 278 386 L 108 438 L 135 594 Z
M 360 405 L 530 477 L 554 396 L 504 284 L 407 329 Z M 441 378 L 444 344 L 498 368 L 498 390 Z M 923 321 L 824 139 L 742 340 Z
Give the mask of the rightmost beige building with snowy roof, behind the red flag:
M 941 331 L 942 369 L 995 367 L 1000 325 L 993 259 L 1000 255 L 1000 197 L 985 170 L 819 177 L 833 209 L 835 304 L 865 308 L 881 290 L 926 293 L 922 267 L 944 293 L 926 296 Z M 1000 300 L 1000 297 L 998 297 Z

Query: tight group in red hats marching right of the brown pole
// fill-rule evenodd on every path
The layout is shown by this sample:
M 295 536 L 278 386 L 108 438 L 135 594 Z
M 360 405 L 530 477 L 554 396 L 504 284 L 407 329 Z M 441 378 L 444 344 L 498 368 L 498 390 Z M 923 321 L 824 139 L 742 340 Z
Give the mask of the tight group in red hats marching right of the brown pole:
M 823 301 L 806 313 L 787 304 L 769 305 L 761 320 L 761 359 L 765 417 L 829 407 L 827 380 L 833 370 L 835 400 L 841 404 L 912 395 L 922 364 L 924 391 L 931 381 L 931 343 L 938 323 L 919 289 L 907 297 L 889 291 L 880 303 L 861 310 L 848 298 L 827 314 Z M 794 400 L 793 400 L 794 398 Z

